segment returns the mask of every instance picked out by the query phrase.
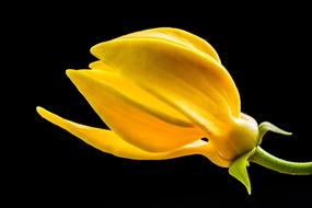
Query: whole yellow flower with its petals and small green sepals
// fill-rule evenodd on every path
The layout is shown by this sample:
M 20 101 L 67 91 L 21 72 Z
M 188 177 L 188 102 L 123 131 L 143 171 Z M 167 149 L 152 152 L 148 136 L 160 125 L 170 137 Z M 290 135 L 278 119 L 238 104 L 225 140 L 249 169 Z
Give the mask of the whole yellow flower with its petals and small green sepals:
M 286 134 L 269 123 L 258 127 L 241 112 L 239 91 L 218 54 L 188 32 L 140 31 L 100 43 L 91 53 L 99 58 L 91 69 L 67 76 L 109 129 L 37 111 L 104 152 L 138 160 L 203 154 L 230 167 L 249 188 L 245 166 L 263 135 Z

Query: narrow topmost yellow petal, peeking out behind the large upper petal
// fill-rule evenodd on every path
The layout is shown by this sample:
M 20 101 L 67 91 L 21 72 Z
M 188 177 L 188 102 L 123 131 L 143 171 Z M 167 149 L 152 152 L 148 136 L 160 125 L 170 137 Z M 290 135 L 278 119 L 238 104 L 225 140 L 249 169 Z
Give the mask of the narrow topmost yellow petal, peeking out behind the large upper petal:
M 136 33 L 130 33 L 128 35 L 124 35 L 120 38 L 160 38 L 163 41 L 167 41 L 171 43 L 180 44 L 181 46 L 198 49 L 210 57 L 212 57 L 218 62 L 220 58 L 215 50 L 215 48 L 207 43 L 205 39 L 193 35 L 186 31 L 173 27 L 158 27 L 158 28 L 150 28 L 145 31 L 139 31 Z

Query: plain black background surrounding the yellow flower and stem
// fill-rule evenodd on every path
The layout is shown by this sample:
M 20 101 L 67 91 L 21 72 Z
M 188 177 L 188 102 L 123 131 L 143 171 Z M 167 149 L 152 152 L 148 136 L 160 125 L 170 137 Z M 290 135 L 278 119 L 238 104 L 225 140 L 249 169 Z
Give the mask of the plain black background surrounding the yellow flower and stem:
M 166 161 L 115 158 L 35 112 L 41 105 L 74 122 L 105 127 L 65 70 L 86 68 L 95 60 L 89 49 L 100 42 L 150 27 L 180 27 L 217 49 L 240 90 L 244 113 L 293 132 L 290 138 L 268 134 L 263 148 L 287 160 L 311 161 L 308 7 L 90 2 L 19 9 L 22 12 L 11 13 L 18 19 L 8 25 L 14 39 L 10 54 L 14 60 L 9 63 L 21 85 L 18 97 L 8 94 L 18 100 L 11 105 L 19 107 L 14 113 L 27 114 L 14 116 L 14 129 L 10 129 L 14 136 L 4 151 L 9 170 L 5 193 L 13 196 L 11 203 L 44 207 L 82 203 L 88 207 L 309 207 L 311 176 L 282 175 L 252 164 L 249 196 L 227 169 L 203 157 Z

